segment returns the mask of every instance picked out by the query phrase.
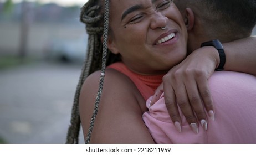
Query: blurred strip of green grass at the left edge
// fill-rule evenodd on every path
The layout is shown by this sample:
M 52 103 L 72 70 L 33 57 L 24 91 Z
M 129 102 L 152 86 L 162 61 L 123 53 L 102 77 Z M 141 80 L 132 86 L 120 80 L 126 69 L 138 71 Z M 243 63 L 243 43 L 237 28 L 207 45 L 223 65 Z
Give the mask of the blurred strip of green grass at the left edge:
M 6 68 L 11 68 L 14 66 L 18 65 L 24 65 L 28 64 L 31 62 L 31 58 L 19 58 L 18 56 L 13 56 L 13 55 L 0 55 L 0 69 L 6 69 Z

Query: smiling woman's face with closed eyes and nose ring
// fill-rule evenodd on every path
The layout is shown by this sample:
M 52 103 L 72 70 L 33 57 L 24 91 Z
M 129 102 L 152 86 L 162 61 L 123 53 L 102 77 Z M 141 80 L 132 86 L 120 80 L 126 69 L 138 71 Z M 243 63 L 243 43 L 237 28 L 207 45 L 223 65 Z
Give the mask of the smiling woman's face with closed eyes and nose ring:
M 109 26 L 109 49 L 137 73 L 165 73 L 186 57 L 186 26 L 170 0 L 111 0 Z

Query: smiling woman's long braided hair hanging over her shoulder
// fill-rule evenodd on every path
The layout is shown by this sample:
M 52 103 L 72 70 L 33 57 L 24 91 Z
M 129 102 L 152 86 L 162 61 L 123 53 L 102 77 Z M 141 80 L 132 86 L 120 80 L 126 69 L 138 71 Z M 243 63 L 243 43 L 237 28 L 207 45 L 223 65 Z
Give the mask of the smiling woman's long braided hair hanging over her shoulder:
M 103 90 L 106 66 L 120 60 L 119 55 L 114 55 L 107 49 L 107 36 L 109 32 L 109 0 L 105 0 L 104 16 L 100 6 L 100 0 L 89 0 L 82 8 L 80 21 L 86 24 L 88 37 L 87 55 L 81 71 L 78 85 L 76 87 L 73 108 L 71 112 L 70 126 L 66 137 L 66 143 L 79 142 L 80 117 L 79 117 L 79 96 L 84 80 L 91 73 L 101 69 L 99 90 L 95 101 L 93 116 L 85 143 L 89 143 L 93 131 L 94 120 L 98 113 L 99 101 Z M 103 20 L 104 18 L 104 20 Z M 104 23 L 103 23 L 104 21 Z M 103 44 L 101 44 L 103 36 Z M 102 52 L 102 53 L 101 53 Z

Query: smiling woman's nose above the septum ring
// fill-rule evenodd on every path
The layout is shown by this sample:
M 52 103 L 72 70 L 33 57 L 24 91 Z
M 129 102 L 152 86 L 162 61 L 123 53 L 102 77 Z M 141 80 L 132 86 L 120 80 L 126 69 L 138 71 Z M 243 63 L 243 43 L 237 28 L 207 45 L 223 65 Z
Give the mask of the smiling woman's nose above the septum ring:
M 150 27 L 151 29 L 166 27 L 167 21 L 168 18 L 166 16 L 160 12 L 155 12 L 152 14 Z

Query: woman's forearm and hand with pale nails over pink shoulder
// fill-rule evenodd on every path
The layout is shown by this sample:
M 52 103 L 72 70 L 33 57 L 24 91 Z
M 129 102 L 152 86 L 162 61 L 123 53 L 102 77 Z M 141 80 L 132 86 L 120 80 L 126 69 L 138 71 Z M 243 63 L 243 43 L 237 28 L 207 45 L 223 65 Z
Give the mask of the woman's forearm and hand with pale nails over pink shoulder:
M 255 37 L 224 43 L 223 46 L 226 54 L 224 70 L 256 75 Z M 193 51 L 182 63 L 172 68 L 165 75 L 163 84 L 156 90 L 151 104 L 154 104 L 164 91 L 166 106 L 173 122 L 181 122 L 177 105 L 180 105 L 183 115 L 185 115 L 190 124 L 196 123 L 198 126 L 197 120 L 200 123 L 201 120 L 206 120 L 207 122 L 204 107 L 209 116 L 214 118 L 208 79 L 218 65 L 218 51 L 212 46 Z

